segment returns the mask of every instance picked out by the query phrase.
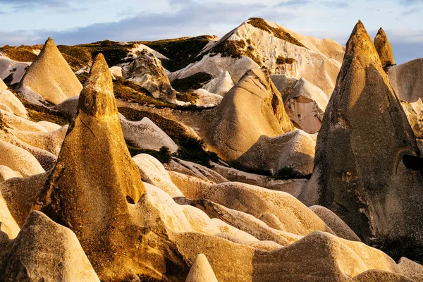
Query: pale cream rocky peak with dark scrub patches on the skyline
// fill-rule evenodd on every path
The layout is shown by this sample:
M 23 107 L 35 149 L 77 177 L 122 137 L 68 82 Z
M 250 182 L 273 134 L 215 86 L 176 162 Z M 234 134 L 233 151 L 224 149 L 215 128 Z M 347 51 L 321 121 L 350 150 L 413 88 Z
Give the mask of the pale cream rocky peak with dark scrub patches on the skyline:
M 272 74 L 305 78 L 330 95 L 342 57 L 343 47 L 331 39 L 305 37 L 276 23 L 251 18 L 204 49 L 199 61 L 171 73 L 169 79 L 195 73 L 216 78 L 227 71 L 238 83 L 248 70 L 265 66 Z

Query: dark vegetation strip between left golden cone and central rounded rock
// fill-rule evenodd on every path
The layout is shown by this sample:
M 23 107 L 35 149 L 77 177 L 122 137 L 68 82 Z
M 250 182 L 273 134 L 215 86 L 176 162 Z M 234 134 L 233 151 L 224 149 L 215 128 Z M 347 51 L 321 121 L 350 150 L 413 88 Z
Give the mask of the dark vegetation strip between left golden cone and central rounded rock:
M 176 121 L 172 121 L 158 114 L 149 113 L 147 111 L 137 111 L 135 109 L 121 107 L 119 112 L 130 121 L 140 121 L 147 117 L 152 120 L 161 130 L 163 130 L 178 145 L 176 157 L 193 161 L 203 166 L 209 166 L 210 160 L 217 161 L 217 155 L 205 150 L 203 140 L 188 135 L 185 128 Z

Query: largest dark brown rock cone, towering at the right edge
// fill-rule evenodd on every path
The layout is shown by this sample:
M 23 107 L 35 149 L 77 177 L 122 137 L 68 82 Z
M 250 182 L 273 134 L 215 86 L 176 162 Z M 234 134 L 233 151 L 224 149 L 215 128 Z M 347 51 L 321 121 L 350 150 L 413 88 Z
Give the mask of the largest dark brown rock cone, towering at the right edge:
M 405 240 L 415 247 L 422 242 L 421 176 L 405 167 L 406 154 L 419 154 L 415 136 L 359 22 L 346 45 L 317 138 L 312 180 L 300 200 L 313 204 L 308 201 L 314 190 L 317 202 L 367 243 L 373 238 L 389 248 L 388 242 Z

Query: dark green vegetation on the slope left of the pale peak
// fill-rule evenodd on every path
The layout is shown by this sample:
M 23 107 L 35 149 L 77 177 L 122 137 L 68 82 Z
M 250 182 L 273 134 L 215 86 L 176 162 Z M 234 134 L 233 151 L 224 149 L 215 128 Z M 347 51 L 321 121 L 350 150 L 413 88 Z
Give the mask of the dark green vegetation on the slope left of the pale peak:
M 168 57 L 170 60 L 161 61 L 164 68 L 168 71 L 178 71 L 192 62 L 198 61 L 197 56 L 213 38 L 209 35 L 202 35 L 137 43 L 145 44 Z

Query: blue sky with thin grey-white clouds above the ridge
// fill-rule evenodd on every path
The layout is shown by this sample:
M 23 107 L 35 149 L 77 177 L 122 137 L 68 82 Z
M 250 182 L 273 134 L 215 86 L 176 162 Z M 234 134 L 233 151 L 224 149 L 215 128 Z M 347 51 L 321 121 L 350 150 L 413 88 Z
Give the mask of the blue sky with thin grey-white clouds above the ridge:
M 0 46 L 223 36 L 252 16 L 345 44 L 384 27 L 397 63 L 423 57 L 423 0 L 0 0 Z

